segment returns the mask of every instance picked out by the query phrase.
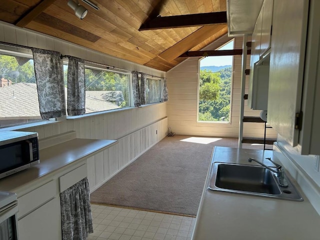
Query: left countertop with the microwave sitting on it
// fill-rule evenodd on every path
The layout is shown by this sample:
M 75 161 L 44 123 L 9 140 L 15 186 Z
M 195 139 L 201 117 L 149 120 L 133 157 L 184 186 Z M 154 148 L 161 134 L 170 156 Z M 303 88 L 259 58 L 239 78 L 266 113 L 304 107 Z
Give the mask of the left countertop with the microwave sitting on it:
M 0 191 L 18 192 L 38 178 L 54 174 L 68 164 L 96 154 L 116 140 L 74 138 L 39 152 L 40 163 L 0 179 Z

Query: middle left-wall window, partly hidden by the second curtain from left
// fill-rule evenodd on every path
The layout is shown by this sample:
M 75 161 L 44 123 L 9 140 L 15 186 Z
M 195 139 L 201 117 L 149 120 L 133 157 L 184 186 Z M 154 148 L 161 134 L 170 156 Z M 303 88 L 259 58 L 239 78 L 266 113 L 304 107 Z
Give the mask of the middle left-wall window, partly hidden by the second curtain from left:
M 67 94 L 67 65 L 63 65 Z M 85 65 L 85 113 L 130 106 L 131 73 Z

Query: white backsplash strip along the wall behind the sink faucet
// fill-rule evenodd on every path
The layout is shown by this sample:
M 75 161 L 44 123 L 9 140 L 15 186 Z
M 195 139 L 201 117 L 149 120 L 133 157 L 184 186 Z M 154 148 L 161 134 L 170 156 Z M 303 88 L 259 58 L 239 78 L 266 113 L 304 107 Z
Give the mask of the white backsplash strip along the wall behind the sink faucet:
M 273 143 L 273 155 L 278 158 L 285 170 L 298 183 L 300 189 L 308 198 L 314 209 L 320 215 L 320 187 L 312 178 L 296 163 L 281 145 Z

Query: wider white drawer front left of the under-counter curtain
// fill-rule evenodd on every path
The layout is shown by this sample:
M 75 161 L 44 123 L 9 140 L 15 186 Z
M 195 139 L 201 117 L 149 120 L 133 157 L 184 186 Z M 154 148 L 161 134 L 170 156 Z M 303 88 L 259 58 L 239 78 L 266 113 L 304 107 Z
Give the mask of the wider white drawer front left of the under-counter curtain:
M 51 180 L 44 185 L 26 193 L 18 198 L 17 213 L 18 218 L 23 217 L 25 214 L 31 212 L 35 208 L 43 205 L 48 200 L 52 199 L 56 193 L 56 186 L 54 180 Z

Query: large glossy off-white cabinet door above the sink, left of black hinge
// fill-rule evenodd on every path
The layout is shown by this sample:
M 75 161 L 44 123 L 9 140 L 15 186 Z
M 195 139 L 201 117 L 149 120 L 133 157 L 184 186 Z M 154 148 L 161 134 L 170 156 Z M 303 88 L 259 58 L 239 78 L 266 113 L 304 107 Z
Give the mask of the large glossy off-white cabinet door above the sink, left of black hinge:
M 308 0 L 274 0 L 270 54 L 268 123 L 290 143 L 298 143 Z

